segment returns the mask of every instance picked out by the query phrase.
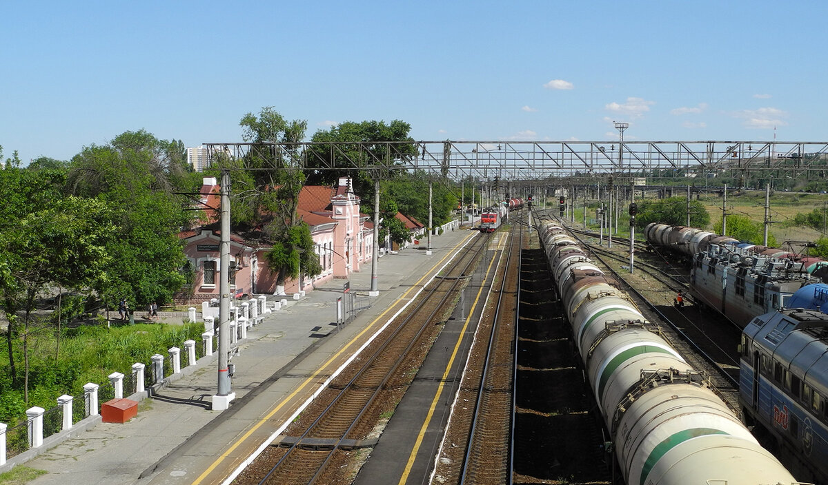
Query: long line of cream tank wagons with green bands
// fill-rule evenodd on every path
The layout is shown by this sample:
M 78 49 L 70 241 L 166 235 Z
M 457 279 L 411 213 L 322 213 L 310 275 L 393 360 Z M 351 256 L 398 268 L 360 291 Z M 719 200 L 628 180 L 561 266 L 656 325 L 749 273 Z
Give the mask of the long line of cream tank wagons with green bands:
M 795 482 L 562 227 L 539 234 L 626 483 Z

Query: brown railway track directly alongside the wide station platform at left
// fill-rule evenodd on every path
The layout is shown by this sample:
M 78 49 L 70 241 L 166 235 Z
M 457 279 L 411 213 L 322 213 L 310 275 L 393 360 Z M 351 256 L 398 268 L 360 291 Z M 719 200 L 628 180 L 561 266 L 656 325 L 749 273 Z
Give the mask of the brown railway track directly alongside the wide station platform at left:
M 233 482 L 349 483 L 342 468 L 390 416 L 407 383 L 439 333 L 435 325 L 454 307 L 465 276 L 479 261 L 489 236 L 480 235 L 418 303 L 383 331 L 339 378 Z

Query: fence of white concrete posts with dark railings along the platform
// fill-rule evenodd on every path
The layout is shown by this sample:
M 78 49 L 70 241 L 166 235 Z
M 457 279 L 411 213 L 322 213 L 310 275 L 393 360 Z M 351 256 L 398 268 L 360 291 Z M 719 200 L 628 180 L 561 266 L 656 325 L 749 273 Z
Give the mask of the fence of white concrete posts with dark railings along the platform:
M 304 292 L 303 292 L 304 293 Z M 297 293 L 298 295 L 298 293 Z M 304 295 L 302 295 L 304 296 Z M 287 300 L 277 301 L 274 310 L 279 310 L 287 305 Z M 218 334 L 218 329 L 214 328 L 215 318 L 218 317 L 218 309 L 216 309 L 215 316 L 205 316 L 205 332 L 201 334 L 201 344 L 204 350 L 204 357 L 212 358 L 213 339 Z M 230 341 L 232 344 L 238 343 L 238 340 L 244 340 L 248 336 L 248 329 L 252 326 L 257 326 L 262 323 L 264 316 L 272 311 L 267 307 L 267 297 L 251 298 L 243 302 L 239 307 L 231 307 L 231 316 L 234 316 L 233 321 L 230 322 Z M 195 321 L 195 308 L 190 308 L 190 321 Z M 185 369 L 181 368 L 181 349 L 178 347 L 171 347 L 167 350 L 167 357 L 161 354 L 152 355 L 150 364 L 150 375 L 152 376 L 152 384 L 150 394 L 155 388 L 161 387 L 164 384 L 164 361 L 169 359 L 172 374 L 166 380 L 176 380 L 183 375 L 190 373 L 187 368 L 194 368 L 198 364 L 196 360 L 195 340 L 185 340 L 184 354 L 186 355 Z M 147 397 L 147 386 L 145 381 L 146 364 L 137 362 L 132 364 L 132 381 L 135 383 L 134 392 L 130 396 L 133 400 L 141 401 Z M 109 384 L 114 391 L 116 399 L 123 398 L 123 380 L 124 374 L 113 372 L 108 376 Z M 57 398 L 57 406 L 51 410 L 44 410 L 42 407 L 30 407 L 26 410 L 26 435 L 28 441 L 28 449 L 20 454 L 17 454 L 14 459 L 7 462 L 7 432 L 9 430 L 7 425 L 0 423 L 0 472 L 6 471 L 17 463 L 31 459 L 34 455 L 39 453 L 40 449 L 46 449 L 48 446 L 54 446 L 61 440 L 65 440 L 71 434 L 74 428 L 82 427 L 83 429 L 89 426 L 94 426 L 100 421 L 100 404 L 99 404 L 99 384 L 86 383 L 84 385 L 84 418 L 78 423 L 73 423 L 73 402 L 75 397 L 67 394 Z M 60 412 L 62 420 L 60 421 L 60 430 L 51 436 L 44 435 L 44 415 L 52 412 Z M 20 425 L 22 426 L 22 425 Z M 13 428 L 16 429 L 16 428 Z M 20 430 L 22 432 L 22 430 Z M 44 445 L 46 443 L 46 446 Z M 19 459 L 18 459 L 19 458 Z

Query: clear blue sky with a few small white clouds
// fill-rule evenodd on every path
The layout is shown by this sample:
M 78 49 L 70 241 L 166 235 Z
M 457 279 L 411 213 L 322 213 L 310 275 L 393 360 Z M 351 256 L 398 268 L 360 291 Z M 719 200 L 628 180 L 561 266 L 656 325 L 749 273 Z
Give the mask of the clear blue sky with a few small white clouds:
M 828 2 L 2 2 L 0 145 L 70 159 L 146 129 L 241 140 L 272 106 L 310 136 L 828 139 Z

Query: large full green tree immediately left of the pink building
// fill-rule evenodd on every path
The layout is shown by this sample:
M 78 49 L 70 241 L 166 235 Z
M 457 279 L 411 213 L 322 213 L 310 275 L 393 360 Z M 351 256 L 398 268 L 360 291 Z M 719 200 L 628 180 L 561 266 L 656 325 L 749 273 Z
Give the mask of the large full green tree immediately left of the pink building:
M 110 209 L 109 278 L 95 288 L 107 307 L 121 298 L 133 307 L 168 302 L 185 284 L 178 233 L 191 213 L 181 210 L 188 200 L 176 192 L 195 192 L 199 179 L 183 169 L 173 146 L 180 144 L 127 131 L 109 145 L 85 147 L 71 161 L 67 191 Z

